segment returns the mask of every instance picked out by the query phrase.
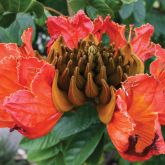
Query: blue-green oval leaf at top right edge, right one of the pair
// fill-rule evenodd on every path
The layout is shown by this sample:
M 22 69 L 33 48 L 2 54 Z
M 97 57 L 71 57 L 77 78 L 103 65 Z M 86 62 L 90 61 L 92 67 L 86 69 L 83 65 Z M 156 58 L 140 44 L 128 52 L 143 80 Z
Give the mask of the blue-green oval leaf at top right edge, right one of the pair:
M 143 23 L 145 16 L 146 16 L 146 9 L 143 0 L 138 0 L 134 3 L 134 17 L 138 23 Z

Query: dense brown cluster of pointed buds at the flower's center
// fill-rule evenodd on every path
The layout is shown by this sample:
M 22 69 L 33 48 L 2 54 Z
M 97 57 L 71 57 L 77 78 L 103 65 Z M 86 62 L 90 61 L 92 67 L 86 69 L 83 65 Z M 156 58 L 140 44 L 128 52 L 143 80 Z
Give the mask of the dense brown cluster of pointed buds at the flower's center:
M 112 44 L 108 47 L 102 42 L 96 44 L 92 36 L 80 40 L 73 50 L 66 47 L 60 38 L 52 46 L 48 61 L 59 72 L 58 87 L 73 104 L 76 104 L 76 99 L 107 104 L 111 99 L 109 87 L 119 88 L 129 75 L 138 72 L 134 55 L 125 50 L 116 53 Z M 78 98 L 74 97 L 75 93 Z

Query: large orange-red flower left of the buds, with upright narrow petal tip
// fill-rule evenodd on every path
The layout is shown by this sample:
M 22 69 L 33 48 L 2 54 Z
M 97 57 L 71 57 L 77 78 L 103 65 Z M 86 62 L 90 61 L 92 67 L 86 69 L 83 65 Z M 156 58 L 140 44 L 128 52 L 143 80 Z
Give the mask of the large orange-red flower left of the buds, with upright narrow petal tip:
M 0 127 L 37 138 L 47 134 L 62 113 L 51 98 L 55 70 L 35 57 L 32 28 L 24 31 L 22 41 L 21 47 L 0 44 Z

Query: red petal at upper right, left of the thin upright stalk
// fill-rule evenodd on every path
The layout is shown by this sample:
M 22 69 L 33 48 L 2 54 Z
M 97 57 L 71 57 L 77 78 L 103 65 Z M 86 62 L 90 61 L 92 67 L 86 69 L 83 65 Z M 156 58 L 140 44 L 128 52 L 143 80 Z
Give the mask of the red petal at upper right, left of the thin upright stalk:
M 123 47 L 127 43 L 125 38 L 125 25 L 119 25 L 111 21 L 110 17 L 106 17 L 105 26 L 106 32 L 110 38 L 110 43 L 114 43 L 116 49 Z

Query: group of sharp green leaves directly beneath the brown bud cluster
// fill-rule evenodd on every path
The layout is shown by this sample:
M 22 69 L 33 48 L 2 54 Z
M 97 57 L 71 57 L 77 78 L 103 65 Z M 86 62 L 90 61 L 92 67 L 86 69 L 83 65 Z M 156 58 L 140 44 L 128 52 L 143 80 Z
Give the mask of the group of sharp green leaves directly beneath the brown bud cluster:
M 39 165 L 44 162 L 47 165 L 52 162 L 57 165 L 78 165 L 93 152 L 99 152 L 97 150 L 103 148 L 99 141 L 102 141 L 104 128 L 98 120 L 96 109 L 91 104 L 86 104 L 76 112 L 66 113 L 47 136 L 36 140 L 24 138 L 21 146 L 29 151 L 28 159 Z M 98 153 L 98 161 L 99 156 Z M 88 161 L 92 158 L 93 155 Z

